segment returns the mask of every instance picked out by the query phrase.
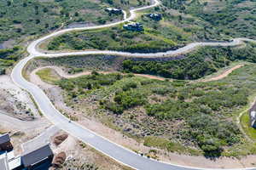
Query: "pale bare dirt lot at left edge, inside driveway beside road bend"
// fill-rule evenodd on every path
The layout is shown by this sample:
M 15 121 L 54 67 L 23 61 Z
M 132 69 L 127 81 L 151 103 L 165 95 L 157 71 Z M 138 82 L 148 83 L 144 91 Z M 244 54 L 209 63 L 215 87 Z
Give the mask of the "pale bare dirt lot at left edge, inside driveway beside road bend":
M 33 139 L 51 124 L 39 116 L 26 91 L 16 87 L 9 76 L 0 76 L 0 133 L 9 133 L 15 154 L 22 150 L 20 144 Z

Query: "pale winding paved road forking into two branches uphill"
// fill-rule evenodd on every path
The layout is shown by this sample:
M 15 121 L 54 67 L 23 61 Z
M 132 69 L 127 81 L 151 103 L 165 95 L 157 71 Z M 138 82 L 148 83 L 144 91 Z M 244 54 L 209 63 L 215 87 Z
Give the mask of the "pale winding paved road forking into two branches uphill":
M 147 8 L 153 8 L 158 6 L 160 3 L 158 0 L 153 0 L 152 5 L 143 8 L 136 8 L 131 9 L 130 17 L 127 18 L 126 13 L 124 11 L 124 20 L 121 20 L 116 23 L 107 24 L 103 26 L 91 26 L 91 27 L 83 27 L 83 28 L 71 28 L 65 29 L 61 31 L 55 31 L 49 34 L 46 37 L 39 38 L 38 40 L 32 42 L 28 48 L 27 52 L 30 54 L 25 59 L 20 60 L 15 68 L 11 73 L 11 77 L 15 84 L 17 84 L 20 88 L 25 89 L 30 94 L 32 94 L 33 98 L 35 99 L 36 103 L 40 111 L 44 114 L 45 117 L 49 119 L 56 127 L 66 131 L 67 133 L 72 134 L 74 137 L 82 140 L 84 143 L 89 144 L 91 147 L 95 148 L 96 150 L 101 151 L 103 154 L 112 157 L 115 161 L 119 161 L 120 163 L 132 167 L 134 169 L 140 170 L 192 170 L 192 169 L 202 169 L 196 167 L 182 167 L 178 165 L 169 164 L 166 162 L 161 161 L 154 161 L 148 159 L 144 156 L 137 155 L 136 153 L 132 152 L 131 150 L 127 150 L 124 147 L 120 146 L 119 144 L 114 144 L 113 142 L 109 141 L 108 139 L 103 138 L 102 136 L 91 132 L 89 129 L 85 127 L 81 127 L 76 122 L 69 122 L 67 117 L 63 116 L 59 111 L 55 109 L 55 106 L 52 105 L 49 98 L 44 94 L 44 91 L 41 88 L 38 88 L 32 82 L 27 82 L 26 79 L 22 76 L 22 69 L 25 67 L 27 62 L 30 59 L 33 59 L 38 56 L 44 57 L 60 57 L 65 55 L 79 55 L 79 54 L 114 54 L 114 55 L 123 55 L 123 56 L 132 56 L 132 57 L 163 57 L 163 56 L 172 56 L 177 54 L 187 53 L 197 47 L 200 46 L 236 46 L 241 44 L 244 41 L 252 41 L 254 40 L 247 39 L 247 38 L 236 38 L 233 39 L 231 42 L 193 42 L 189 45 L 179 48 L 173 51 L 167 51 L 165 53 L 155 53 L 155 54 L 131 54 L 125 52 L 116 52 L 116 51 L 84 51 L 84 52 L 72 52 L 72 53 L 55 53 L 55 54 L 45 54 L 38 51 L 37 47 L 38 44 L 44 42 L 45 40 L 49 39 L 50 37 L 55 37 L 61 35 L 67 31 L 79 31 L 79 30 L 92 30 L 92 29 L 99 29 L 109 26 L 116 26 L 121 23 L 125 23 L 126 21 L 134 20 L 136 18 L 136 12 L 138 10 L 143 10 Z M 253 168 L 251 168 L 253 169 Z

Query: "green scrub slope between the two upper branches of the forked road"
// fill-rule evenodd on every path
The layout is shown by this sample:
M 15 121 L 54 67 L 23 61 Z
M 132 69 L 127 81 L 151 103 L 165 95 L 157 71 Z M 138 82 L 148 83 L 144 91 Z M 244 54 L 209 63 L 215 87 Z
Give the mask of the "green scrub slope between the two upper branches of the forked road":
M 144 31 L 125 31 L 122 25 L 97 31 L 75 31 L 49 42 L 49 50 L 111 49 L 129 52 L 157 52 L 188 42 L 255 38 L 254 1 L 166 1 L 143 11 L 136 21 Z M 155 21 L 144 14 L 162 14 Z M 101 40 L 101 41 L 99 41 Z

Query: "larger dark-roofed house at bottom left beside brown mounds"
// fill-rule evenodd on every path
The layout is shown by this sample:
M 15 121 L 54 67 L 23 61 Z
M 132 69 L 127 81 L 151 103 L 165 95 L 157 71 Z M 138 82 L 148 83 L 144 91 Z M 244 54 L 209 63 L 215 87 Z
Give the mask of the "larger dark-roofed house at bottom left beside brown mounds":
M 46 144 L 37 150 L 33 150 L 21 156 L 21 163 L 26 169 L 33 169 L 40 166 L 42 163 L 52 161 L 54 156 L 49 144 Z

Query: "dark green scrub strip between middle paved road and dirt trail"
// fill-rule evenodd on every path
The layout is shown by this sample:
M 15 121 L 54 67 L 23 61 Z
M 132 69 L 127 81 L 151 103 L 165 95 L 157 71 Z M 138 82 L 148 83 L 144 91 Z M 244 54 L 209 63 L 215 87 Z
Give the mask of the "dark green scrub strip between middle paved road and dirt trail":
M 133 59 L 113 55 L 65 56 L 57 59 L 36 59 L 40 65 L 59 65 L 69 72 L 122 71 L 141 73 L 180 80 L 195 80 L 217 72 L 234 61 L 256 62 L 254 43 L 242 47 L 203 47 L 185 54 L 183 59 Z M 81 70 L 82 69 L 82 70 Z

